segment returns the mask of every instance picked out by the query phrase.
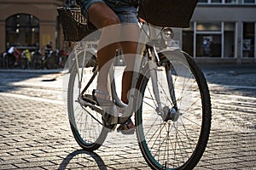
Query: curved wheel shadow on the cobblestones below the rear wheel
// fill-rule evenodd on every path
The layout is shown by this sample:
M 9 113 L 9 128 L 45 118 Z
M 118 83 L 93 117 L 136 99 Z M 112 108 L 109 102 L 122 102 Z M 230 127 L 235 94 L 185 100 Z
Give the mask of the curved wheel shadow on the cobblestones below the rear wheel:
M 68 156 L 66 156 L 63 159 L 63 161 L 61 162 L 61 165 L 58 169 L 59 170 L 67 169 L 68 165 L 73 163 L 72 161 L 75 157 L 79 157 L 79 158 L 82 157 L 82 158 L 86 159 L 86 161 L 88 161 L 88 159 L 92 158 L 94 161 L 92 164 L 96 164 L 97 167 L 99 167 L 99 169 L 101 169 L 101 170 L 107 170 L 107 167 L 106 167 L 104 161 L 102 160 L 101 156 L 98 156 L 95 152 L 89 152 L 89 151 L 85 151 L 85 150 L 75 150 L 72 153 L 70 153 Z M 92 166 L 92 165 L 90 164 L 88 166 Z M 95 168 L 96 166 L 92 166 L 92 167 Z

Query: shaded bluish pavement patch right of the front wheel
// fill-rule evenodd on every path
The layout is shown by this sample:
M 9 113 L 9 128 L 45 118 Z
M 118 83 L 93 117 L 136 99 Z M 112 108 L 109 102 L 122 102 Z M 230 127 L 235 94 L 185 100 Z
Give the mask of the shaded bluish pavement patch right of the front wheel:
M 256 65 L 200 65 L 200 67 L 212 93 L 256 96 Z

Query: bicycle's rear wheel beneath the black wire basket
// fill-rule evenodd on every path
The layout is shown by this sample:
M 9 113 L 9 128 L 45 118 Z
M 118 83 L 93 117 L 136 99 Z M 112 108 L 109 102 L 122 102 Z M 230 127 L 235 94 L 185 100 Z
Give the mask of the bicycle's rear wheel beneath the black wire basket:
M 92 151 L 102 145 L 108 131 L 102 126 L 100 108 L 94 110 L 79 102 L 79 95 L 87 84 L 89 88 L 85 94 L 91 94 L 92 89 L 96 87 L 96 77 L 92 78 L 96 70 L 96 57 L 89 52 L 84 54 L 84 51 L 77 55 L 78 62 L 74 59 L 69 70 L 67 111 L 74 138 L 84 150 Z

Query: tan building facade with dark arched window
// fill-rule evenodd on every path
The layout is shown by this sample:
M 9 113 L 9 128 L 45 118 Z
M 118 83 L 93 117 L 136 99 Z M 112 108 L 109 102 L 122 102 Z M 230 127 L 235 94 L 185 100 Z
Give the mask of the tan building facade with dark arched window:
M 56 8 L 62 0 L 0 0 L 0 53 L 12 45 L 44 49 L 49 41 L 60 44 Z

